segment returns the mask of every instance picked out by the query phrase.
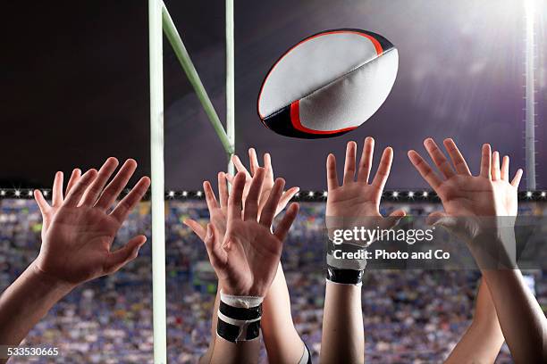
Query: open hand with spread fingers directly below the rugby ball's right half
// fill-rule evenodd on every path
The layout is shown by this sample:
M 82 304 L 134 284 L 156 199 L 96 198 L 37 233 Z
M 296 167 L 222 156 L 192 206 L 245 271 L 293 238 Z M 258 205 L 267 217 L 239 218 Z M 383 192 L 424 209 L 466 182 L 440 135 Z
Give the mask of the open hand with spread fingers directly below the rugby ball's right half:
M 333 154 L 329 154 L 327 157 L 326 217 L 328 228 L 330 228 L 329 225 L 338 225 L 338 223 L 342 223 L 346 228 L 364 225 L 370 225 L 369 227 L 372 228 L 389 228 L 396 225 L 398 220 L 405 216 L 405 212 L 402 210 L 393 211 L 388 218 L 383 218 L 380 214 L 380 199 L 383 186 L 390 175 L 393 150 L 391 147 L 385 148 L 376 175 L 372 183 L 369 184 L 373 153 L 374 139 L 368 136 L 365 139 L 365 146 L 358 164 L 356 180 L 357 143 L 348 143 L 342 186 L 338 183 L 336 158 Z

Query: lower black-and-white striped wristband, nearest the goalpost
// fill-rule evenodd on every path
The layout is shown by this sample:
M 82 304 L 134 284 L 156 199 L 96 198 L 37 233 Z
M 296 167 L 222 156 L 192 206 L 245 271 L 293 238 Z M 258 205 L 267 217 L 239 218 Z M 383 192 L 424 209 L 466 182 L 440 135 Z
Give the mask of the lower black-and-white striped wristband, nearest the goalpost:
M 231 343 L 254 340 L 260 335 L 263 297 L 234 296 L 221 291 L 216 334 Z

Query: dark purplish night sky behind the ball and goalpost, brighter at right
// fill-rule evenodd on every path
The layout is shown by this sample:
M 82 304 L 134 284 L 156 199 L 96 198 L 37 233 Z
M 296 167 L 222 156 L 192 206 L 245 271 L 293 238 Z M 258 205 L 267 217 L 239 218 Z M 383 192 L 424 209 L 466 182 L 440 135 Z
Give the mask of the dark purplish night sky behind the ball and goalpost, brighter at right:
M 538 2 L 543 3 L 543 2 Z M 223 1 L 166 4 L 221 119 L 224 116 Z M 273 154 L 290 185 L 324 188 L 324 158 L 348 140 L 392 145 L 390 188 L 424 186 L 406 158 L 425 136 L 453 137 L 477 170 L 490 142 L 524 164 L 524 12 L 520 0 L 236 0 L 237 150 Z M 546 34 L 545 9 L 537 33 Z M 135 158 L 149 171 L 147 2 L 8 2 L 0 24 L 0 180 L 49 186 L 55 170 Z M 338 138 L 299 140 L 264 128 L 257 93 L 290 45 L 323 29 L 382 34 L 400 50 L 390 97 L 361 128 Z M 543 45 L 544 39 L 538 39 Z M 538 182 L 547 184 L 547 57 L 538 46 Z M 222 146 L 164 41 L 166 185 L 198 189 L 225 168 Z M 379 153 L 379 151 L 378 151 Z

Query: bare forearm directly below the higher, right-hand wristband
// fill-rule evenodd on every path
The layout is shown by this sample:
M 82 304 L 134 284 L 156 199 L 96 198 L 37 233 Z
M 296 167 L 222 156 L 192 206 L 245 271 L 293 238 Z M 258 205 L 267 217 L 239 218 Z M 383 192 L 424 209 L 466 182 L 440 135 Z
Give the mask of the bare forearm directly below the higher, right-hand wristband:
M 320 361 L 327 364 L 365 361 L 360 285 L 339 285 L 327 281 Z

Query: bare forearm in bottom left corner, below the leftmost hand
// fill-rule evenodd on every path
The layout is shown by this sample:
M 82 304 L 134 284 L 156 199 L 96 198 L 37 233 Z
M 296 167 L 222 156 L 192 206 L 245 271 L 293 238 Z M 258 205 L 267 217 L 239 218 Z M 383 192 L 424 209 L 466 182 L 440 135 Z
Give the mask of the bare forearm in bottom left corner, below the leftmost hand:
M 31 264 L 0 296 L 0 344 L 18 345 L 53 305 L 72 290 Z

